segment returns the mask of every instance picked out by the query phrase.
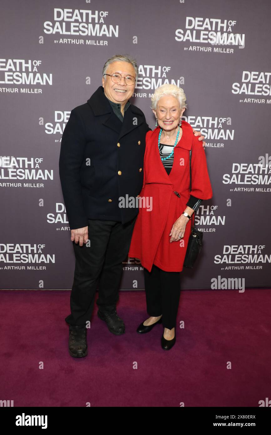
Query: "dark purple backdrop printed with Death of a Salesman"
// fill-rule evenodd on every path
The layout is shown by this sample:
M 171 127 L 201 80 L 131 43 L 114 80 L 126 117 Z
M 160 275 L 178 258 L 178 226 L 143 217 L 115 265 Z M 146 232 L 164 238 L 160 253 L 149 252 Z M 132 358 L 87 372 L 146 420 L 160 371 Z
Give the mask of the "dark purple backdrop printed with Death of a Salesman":
M 1 1 L 0 288 L 71 288 L 61 137 L 105 60 L 127 53 L 149 125 L 151 94 L 173 83 L 206 137 L 214 195 L 196 214 L 204 248 L 181 287 L 270 286 L 270 12 L 269 0 Z M 121 289 L 143 289 L 139 261 L 123 267 Z

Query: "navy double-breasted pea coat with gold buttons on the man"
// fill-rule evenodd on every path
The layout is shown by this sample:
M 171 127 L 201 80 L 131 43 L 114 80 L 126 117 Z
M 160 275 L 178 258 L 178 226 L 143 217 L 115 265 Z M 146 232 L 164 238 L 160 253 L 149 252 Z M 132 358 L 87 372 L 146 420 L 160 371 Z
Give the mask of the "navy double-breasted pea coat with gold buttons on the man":
M 100 86 L 87 103 L 71 110 L 61 141 L 59 173 L 70 229 L 88 219 L 121 221 L 138 208 L 119 207 L 121 198 L 137 197 L 143 184 L 144 113 L 130 104 L 121 122 Z

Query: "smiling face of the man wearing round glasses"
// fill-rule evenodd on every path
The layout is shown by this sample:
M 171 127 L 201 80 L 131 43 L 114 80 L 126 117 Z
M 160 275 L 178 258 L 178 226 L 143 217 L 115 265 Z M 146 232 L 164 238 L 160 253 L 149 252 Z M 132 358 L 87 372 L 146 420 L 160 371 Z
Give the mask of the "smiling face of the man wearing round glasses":
M 105 72 L 106 74 L 120 73 L 122 77 L 127 75 L 136 76 L 132 64 L 129 62 L 120 62 L 119 60 L 112 62 Z M 133 85 L 127 85 L 124 78 L 122 78 L 119 83 L 113 83 L 111 77 L 103 77 L 104 94 L 109 100 L 113 101 L 113 103 L 126 103 L 134 94 L 134 87 L 135 83 Z

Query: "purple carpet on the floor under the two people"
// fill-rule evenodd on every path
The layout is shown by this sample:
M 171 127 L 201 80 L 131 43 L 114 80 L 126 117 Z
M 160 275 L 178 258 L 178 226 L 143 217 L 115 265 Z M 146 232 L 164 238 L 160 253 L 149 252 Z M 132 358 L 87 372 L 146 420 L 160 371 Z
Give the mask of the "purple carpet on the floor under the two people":
M 120 291 L 125 334 L 112 335 L 95 304 L 88 355 L 78 359 L 67 348 L 70 291 L 0 291 L 0 299 L 0 399 L 14 407 L 258 407 L 271 398 L 268 289 L 182 291 L 184 328 L 170 351 L 162 325 L 136 332 L 148 317 L 144 291 Z

